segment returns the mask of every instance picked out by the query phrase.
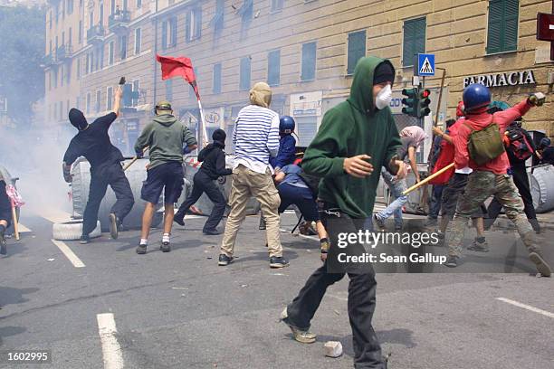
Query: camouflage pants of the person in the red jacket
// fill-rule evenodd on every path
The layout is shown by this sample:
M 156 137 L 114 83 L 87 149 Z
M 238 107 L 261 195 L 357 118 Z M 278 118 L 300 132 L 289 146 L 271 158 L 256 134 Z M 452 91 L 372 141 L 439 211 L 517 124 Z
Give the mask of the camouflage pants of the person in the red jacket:
M 495 175 L 492 172 L 474 171 L 470 176 L 463 194 L 456 206 L 454 221 L 450 222 L 446 232 L 448 255 L 462 255 L 463 233 L 473 213 L 490 196 L 504 206 L 506 215 L 520 233 L 521 241 L 529 251 L 539 251 L 534 232 L 523 212 L 523 201 L 510 175 Z

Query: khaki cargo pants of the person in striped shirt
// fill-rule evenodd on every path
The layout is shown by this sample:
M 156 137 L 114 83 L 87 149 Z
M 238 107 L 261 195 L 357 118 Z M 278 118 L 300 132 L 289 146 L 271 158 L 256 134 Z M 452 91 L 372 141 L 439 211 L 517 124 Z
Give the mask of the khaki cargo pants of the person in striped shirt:
M 233 170 L 233 184 L 229 198 L 231 213 L 229 213 L 225 224 L 221 253 L 229 257 L 233 256 L 236 234 L 244 221 L 246 204 L 252 196 L 262 205 L 270 257 L 280 257 L 282 256 L 282 245 L 278 209 L 281 198 L 275 185 L 273 185 L 271 171 L 267 169 L 263 175 L 241 165 Z

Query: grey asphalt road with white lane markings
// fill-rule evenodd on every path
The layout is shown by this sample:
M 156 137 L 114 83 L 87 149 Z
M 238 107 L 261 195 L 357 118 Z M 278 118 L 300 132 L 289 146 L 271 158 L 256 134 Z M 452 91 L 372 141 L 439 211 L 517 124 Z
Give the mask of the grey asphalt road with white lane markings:
M 317 241 L 283 232 L 291 266 L 271 270 L 258 218 L 249 217 L 238 260 L 222 268 L 221 236 L 203 236 L 204 219 L 191 219 L 186 231 L 175 230 L 168 254 L 152 245 L 137 255 L 138 232 L 65 242 L 84 264 L 76 268 L 51 240 L 54 218 L 27 215 L 30 232 L 9 241 L 0 260 L 0 351 L 52 350 L 53 364 L 41 368 L 352 367 L 348 280 L 329 289 L 314 318 L 317 343 L 296 343 L 277 322 L 320 265 Z M 294 221 L 285 214 L 282 228 Z M 550 260 L 553 237 L 548 231 L 541 239 Z M 512 273 L 377 275 L 374 322 L 389 368 L 554 368 L 554 279 L 530 276 L 511 232 L 489 233 L 489 240 L 492 252 L 470 254 L 460 270 L 484 265 Z M 341 341 L 345 355 L 324 357 L 328 340 Z

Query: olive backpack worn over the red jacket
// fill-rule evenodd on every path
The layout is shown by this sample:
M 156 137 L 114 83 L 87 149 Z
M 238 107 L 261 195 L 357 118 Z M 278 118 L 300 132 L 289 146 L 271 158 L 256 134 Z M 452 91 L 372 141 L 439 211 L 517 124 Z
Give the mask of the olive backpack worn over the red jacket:
M 472 130 L 469 134 L 467 150 L 478 166 L 492 161 L 505 152 L 500 128 L 494 123 L 493 117 L 491 118 L 491 124 L 479 130 L 474 129 L 468 120 L 464 120 L 463 125 Z

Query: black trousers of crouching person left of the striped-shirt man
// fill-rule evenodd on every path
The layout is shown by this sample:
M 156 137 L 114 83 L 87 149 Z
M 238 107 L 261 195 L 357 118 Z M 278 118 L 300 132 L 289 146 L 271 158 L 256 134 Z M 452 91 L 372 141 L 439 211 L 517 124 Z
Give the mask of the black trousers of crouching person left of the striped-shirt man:
M 212 203 L 214 203 L 212 213 L 210 213 L 207 221 L 205 221 L 204 232 L 215 231 L 215 227 L 217 227 L 217 224 L 223 219 L 225 199 L 221 191 L 219 191 L 219 188 L 217 188 L 217 185 L 215 185 L 214 180 L 202 170 L 199 170 L 194 176 L 192 193 L 188 195 L 184 203 L 181 203 L 178 213 L 180 215 L 185 215 L 188 209 L 195 204 L 204 193 Z

